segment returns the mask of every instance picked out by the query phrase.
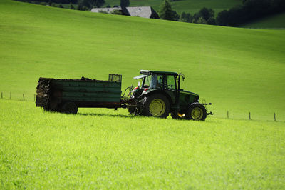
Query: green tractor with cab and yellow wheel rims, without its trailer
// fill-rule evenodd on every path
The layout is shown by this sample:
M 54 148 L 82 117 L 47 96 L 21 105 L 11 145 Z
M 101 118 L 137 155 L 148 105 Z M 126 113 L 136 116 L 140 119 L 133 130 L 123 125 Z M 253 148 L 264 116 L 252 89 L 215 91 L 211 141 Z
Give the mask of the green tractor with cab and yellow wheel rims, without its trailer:
M 199 103 L 199 95 L 180 89 L 184 75 L 175 72 L 141 70 L 138 86 L 128 100 L 130 114 L 166 118 L 171 114 L 174 119 L 206 119 L 206 105 Z

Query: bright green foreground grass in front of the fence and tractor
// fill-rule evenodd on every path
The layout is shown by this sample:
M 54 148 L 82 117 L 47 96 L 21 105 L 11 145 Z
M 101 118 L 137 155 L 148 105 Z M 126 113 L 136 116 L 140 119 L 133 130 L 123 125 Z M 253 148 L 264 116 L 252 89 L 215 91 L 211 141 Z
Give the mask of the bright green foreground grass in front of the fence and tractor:
M 1 189 L 284 189 L 284 122 L 177 121 L 0 100 Z M 11 117 L 13 116 L 13 117 Z

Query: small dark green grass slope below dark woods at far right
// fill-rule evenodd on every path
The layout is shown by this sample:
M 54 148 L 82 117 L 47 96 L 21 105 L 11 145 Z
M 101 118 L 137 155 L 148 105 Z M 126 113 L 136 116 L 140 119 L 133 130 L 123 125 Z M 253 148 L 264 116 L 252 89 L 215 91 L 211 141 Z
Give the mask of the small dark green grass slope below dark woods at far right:
M 241 27 L 252 29 L 285 29 L 285 13 L 267 16 L 264 19 L 259 19 Z

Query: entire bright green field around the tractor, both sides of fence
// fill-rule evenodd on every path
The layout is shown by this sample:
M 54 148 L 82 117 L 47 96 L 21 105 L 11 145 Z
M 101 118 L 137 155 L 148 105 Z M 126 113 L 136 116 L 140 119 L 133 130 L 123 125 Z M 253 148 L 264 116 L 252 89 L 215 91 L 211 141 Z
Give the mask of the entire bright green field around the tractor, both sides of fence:
M 284 189 L 284 36 L 0 1 L 0 189 Z M 31 102 L 40 76 L 123 74 L 124 90 L 140 69 L 182 72 L 214 116 L 66 115 Z

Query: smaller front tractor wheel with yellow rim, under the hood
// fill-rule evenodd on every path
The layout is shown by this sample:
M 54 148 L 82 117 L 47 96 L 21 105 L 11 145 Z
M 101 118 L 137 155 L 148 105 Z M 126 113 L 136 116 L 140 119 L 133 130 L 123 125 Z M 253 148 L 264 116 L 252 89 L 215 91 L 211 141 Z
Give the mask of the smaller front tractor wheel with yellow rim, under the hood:
M 185 114 L 185 119 L 192 119 L 195 121 L 204 121 L 207 117 L 207 111 L 202 104 L 195 102 L 191 104 Z

